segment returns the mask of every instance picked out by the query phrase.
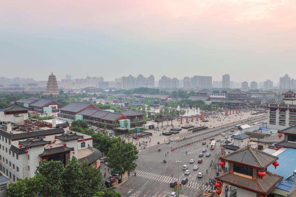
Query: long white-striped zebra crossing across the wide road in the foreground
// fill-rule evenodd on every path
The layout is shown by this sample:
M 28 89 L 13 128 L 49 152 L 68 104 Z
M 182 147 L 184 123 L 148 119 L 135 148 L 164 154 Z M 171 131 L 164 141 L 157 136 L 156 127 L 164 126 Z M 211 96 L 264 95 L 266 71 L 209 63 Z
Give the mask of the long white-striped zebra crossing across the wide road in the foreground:
M 165 175 L 159 175 L 159 174 L 155 174 L 152 172 L 145 172 L 145 171 L 141 171 L 141 170 L 136 170 L 135 171 L 137 176 L 142 177 L 142 178 L 147 178 L 147 179 L 151 179 L 151 180 L 155 180 L 155 181 L 160 181 L 163 183 L 170 183 L 171 181 L 178 181 L 178 178 L 172 178 L 170 176 L 165 176 Z M 191 189 L 203 189 L 203 190 L 208 190 L 211 188 L 211 185 L 205 185 L 205 183 L 197 183 L 197 182 L 190 182 L 190 185 L 187 183 L 185 185 L 183 185 L 183 187 L 186 188 L 191 188 Z

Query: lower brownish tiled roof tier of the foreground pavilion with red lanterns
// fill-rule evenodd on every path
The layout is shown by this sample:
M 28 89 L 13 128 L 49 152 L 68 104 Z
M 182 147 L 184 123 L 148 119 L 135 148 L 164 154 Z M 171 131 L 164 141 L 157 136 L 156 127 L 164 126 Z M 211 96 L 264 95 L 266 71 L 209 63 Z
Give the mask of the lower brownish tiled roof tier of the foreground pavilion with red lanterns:
M 243 188 L 245 190 L 257 192 L 257 193 L 270 193 L 275 186 L 283 179 L 283 177 L 276 175 L 274 173 L 268 172 L 261 179 L 259 176 L 257 180 L 245 178 L 239 175 L 235 175 L 227 171 L 222 175 L 216 177 L 218 181 L 227 183 L 229 185 L 234 185 L 238 188 Z

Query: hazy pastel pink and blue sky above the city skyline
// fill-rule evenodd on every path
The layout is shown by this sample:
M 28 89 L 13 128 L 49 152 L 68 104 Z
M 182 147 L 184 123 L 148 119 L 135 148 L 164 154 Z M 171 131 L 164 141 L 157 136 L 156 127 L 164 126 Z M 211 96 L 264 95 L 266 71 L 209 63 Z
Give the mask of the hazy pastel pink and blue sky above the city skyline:
M 296 78 L 295 0 L 0 0 L 0 76 Z

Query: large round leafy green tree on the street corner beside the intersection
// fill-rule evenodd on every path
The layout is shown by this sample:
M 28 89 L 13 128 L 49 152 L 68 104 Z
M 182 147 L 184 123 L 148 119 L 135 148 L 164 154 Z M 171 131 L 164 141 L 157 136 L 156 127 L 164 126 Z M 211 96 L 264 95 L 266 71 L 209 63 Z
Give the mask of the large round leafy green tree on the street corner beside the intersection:
M 139 151 L 132 143 L 121 143 L 120 141 L 111 145 L 108 152 L 108 163 L 111 168 L 111 174 L 119 172 L 122 174 L 126 171 L 132 171 L 136 166 Z

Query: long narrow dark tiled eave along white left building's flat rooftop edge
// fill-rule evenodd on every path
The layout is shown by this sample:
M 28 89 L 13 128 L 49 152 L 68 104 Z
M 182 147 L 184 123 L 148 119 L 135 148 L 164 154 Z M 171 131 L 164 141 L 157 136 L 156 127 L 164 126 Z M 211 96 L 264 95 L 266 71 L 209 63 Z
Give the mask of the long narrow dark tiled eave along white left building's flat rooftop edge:
M 41 131 L 30 131 L 30 132 L 23 132 L 23 133 L 8 133 L 6 131 L 3 131 L 0 129 L 0 135 L 10 139 L 26 139 L 30 137 L 36 137 L 36 136 L 43 136 L 43 135 L 52 135 L 57 133 L 64 133 L 63 128 L 52 128 L 47 130 L 41 130 Z

